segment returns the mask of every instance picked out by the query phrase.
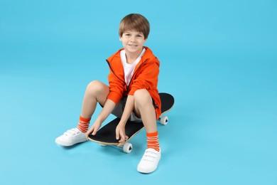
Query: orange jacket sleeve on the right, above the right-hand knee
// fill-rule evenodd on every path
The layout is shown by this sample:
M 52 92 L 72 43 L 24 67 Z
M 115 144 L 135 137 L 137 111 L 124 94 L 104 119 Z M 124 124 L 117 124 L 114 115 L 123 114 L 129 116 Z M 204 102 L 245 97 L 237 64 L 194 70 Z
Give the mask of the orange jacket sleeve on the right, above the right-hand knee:
M 134 82 L 131 84 L 129 95 L 134 95 L 136 90 L 146 89 L 153 90 L 158 86 L 158 73 L 159 73 L 159 63 L 152 62 L 146 63 L 139 74 L 134 78 Z

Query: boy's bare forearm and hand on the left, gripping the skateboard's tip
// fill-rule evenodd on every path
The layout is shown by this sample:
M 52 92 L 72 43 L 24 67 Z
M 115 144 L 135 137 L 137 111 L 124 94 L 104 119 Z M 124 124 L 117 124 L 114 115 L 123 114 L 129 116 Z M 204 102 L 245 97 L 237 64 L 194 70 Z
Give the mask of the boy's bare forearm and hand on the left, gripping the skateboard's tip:
M 98 129 L 102 125 L 102 122 L 104 122 L 104 120 L 107 119 L 109 114 L 111 114 L 112 110 L 114 110 L 115 106 L 116 106 L 115 102 L 113 102 L 112 100 L 109 100 L 109 99 L 106 100 L 105 105 L 104 105 L 102 111 L 100 112 L 99 116 L 95 120 L 92 127 L 87 131 L 87 134 L 86 134 L 87 138 L 88 138 L 89 134 L 95 135 L 97 133 Z

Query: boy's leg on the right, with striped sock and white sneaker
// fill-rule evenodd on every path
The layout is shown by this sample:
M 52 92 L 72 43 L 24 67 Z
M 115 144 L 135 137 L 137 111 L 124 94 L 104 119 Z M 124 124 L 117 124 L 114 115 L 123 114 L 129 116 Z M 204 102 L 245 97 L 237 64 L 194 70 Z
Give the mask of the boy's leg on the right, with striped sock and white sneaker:
M 156 125 L 156 111 L 151 95 L 147 90 L 136 90 L 134 94 L 134 112 L 141 116 L 146 129 L 147 149 L 138 165 L 141 173 L 155 171 L 161 159 L 161 149 L 158 143 L 158 131 Z

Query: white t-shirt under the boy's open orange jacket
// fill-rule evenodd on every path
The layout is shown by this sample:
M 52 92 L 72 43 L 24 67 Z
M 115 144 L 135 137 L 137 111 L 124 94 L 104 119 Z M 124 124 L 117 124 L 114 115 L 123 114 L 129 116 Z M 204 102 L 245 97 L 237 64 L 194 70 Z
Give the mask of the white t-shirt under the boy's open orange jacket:
M 141 60 L 141 56 L 143 56 L 145 51 L 146 51 L 146 49 L 143 48 L 139 57 L 136 58 L 134 63 L 131 63 L 131 64 L 127 63 L 125 50 L 120 51 L 121 62 L 122 62 L 123 68 L 124 68 L 125 82 L 127 85 L 129 85 L 131 78 L 134 74 L 134 69 L 135 69 L 136 65 L 139 63 L 139 61 Z

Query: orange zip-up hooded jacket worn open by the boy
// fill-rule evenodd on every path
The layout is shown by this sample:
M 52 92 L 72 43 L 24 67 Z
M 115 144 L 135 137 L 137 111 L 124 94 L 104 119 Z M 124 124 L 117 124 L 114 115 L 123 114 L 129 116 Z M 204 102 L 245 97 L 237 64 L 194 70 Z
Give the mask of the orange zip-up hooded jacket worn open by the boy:
M 136 90 L 146 89 L 153 99 L 156 119 L 158 119 L 161 115 L 161 99 L 157 89 L 160 62 L 158 58 L 153 55 L 151 49 L 147 47 L 144 48 L 146 52 L 136 65 L 129 86 L 125 83 L 124 68 L 120 58 L 120 51 L 123 49 L 120 49 L 107 59 L 110 70 L 108 75 L 109 95 L 107 98 L 117 104 L 122 96 L 134 95 Z

